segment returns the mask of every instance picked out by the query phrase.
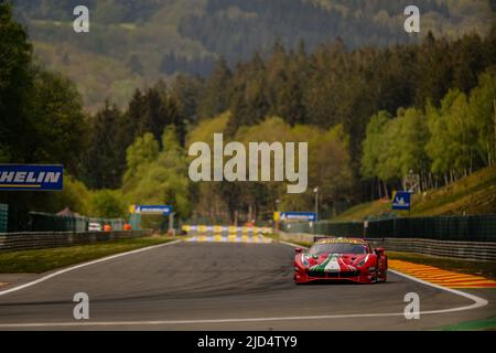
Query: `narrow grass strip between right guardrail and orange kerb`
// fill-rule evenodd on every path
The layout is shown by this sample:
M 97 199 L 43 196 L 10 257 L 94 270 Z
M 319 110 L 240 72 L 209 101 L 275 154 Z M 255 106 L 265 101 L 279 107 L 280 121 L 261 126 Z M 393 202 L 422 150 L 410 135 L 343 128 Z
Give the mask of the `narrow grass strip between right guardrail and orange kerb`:
M 387 252 L 389 259 L 409 261 L 413 264 L 434 266 L 441 269 L 452 270 L 461 274 L 477 275 L 496 279 L 496 263 L 493 261 L 468 261 L 446 257 L 436 257 L 422 254 Z

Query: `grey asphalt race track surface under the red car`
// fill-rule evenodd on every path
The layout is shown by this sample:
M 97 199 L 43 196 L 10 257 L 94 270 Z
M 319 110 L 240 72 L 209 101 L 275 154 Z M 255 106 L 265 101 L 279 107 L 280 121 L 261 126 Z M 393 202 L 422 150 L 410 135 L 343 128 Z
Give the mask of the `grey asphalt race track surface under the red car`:
M 474 301 L 392 272 L 387 284 L 295 286 L 293 256 L 278 243 L 155 247 L 0 295 L 0 330 L 420 330 L 496 312 L 494 289 L 465 290 L 488 304 L 453 311 Z M 89 296 L 89 321 L 73 317 L 76 292 Z M 448 312 L 407 320 L 408 292 L 421 312 Z

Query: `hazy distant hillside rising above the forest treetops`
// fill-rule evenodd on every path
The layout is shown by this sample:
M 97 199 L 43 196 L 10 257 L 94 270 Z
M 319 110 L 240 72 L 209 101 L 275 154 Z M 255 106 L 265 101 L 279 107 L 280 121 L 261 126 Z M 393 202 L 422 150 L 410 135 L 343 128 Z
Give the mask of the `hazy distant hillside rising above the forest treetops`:
M 2 0 L 6 1 L 6 0 Z M 431 31 L 452 40 L 484 35 L 493 0 L 422 0 L 421 33 L 403 31 L 407 0 L 10 0 L 37 58 L 78 86 L 91 113 L 106 98 L 120 108 L 136 87 L 179 73 L 208 76 L 224 57 L 234 68 L 279 41 L 313 52 L 339 38 L 348 50 L 421 42 Z M 90 34 L 72 30 L 73 9 L 90 11 Z M 89 69 L 84 69 L 88 68 Z M 112 69 L 108 69 L 112 67 Z

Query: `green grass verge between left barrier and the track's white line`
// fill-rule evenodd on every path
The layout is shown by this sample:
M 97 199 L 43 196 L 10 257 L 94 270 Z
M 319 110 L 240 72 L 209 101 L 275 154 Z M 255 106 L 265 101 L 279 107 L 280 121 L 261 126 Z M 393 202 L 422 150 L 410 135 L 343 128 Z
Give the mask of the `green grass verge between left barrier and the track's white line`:
M 71 247 L 0 253 L 0 274 L 42 274 L 172 240 L 171 237 L 145 237 Z

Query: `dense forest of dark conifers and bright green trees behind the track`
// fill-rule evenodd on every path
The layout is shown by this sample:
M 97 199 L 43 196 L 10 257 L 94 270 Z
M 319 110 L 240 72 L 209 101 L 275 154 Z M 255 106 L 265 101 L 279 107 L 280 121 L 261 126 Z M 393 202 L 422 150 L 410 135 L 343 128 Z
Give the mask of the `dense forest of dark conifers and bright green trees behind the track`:
M 88 114 L 74 83 L 34 60 L 3 3 L 0 21 L 0 162 L 64 163 L 68 174 L 62 194 L 2 193 L 20 214 L 69 205 L 125 216 L 128 204 L 154 202 L 173 204 L 182 218 L 247 221 L 276 207 L 312 210 L 319 185 L 332 215 L 389 194 L 410 170 L 430 189 L 495 161 L 495 26 L 386 47 L 276 41 L 234 66 L 220 57 L 207 77 L 179 74 L 134 88 L 125 107 L 107 100 Z M 187 147 L 214 132 L 244 143 L 309 142 L 308 193 L 191 183 Z

